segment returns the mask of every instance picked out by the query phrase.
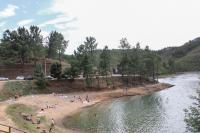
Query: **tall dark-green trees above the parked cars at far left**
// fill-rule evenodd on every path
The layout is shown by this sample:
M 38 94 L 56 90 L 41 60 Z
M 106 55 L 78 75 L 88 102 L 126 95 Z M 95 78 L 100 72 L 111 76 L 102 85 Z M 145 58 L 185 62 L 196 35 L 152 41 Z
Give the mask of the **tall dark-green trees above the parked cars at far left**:
M 37 26 L 6 30 L 0 41 L 0 63 L 36 64 L 44 58 L 61 60 L 67 44 L 68 41 L 57 31 L 52 31 L 48 37 L 43 38 L 41 29 Z

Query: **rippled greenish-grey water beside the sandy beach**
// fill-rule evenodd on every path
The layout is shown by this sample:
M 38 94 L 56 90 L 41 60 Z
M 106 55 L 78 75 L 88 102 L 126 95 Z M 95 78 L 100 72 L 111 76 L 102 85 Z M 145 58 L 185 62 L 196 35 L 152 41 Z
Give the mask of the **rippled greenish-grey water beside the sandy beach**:
M 67 127 L 99 133 L 184 133 L 184 109 L 194 102 L 200 73 L 159 79 L 175 85 L 148 96 L 115 99 L 84 109 L 68 119 Z

